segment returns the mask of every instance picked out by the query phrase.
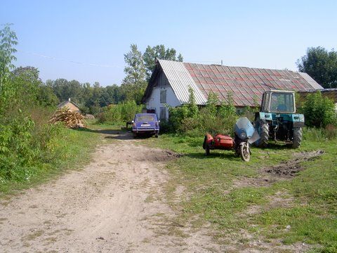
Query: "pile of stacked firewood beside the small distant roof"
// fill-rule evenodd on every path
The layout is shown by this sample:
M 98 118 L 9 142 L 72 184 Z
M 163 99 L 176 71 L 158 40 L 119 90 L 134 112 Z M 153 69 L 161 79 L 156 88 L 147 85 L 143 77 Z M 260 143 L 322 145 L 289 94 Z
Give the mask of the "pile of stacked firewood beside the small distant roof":
M 51 124 L 64 122 L 65 126 L 72 129 L 78 129 L 86 126 L 84 117 L 79 112 L 72 112 L 68 108 L 58 109 L 49 122 Z

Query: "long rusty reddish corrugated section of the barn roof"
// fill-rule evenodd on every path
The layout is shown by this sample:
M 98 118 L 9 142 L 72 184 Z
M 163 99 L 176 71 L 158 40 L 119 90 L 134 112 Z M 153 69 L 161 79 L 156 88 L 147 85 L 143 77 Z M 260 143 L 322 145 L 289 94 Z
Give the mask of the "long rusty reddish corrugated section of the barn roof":
M 289 70 L 229 67 L 183 63 L 204 96 L 216 93 L 220 100 L 232 96 L 236 106 L 260 104 L 263 91 L 323 89 L 308 74 Z

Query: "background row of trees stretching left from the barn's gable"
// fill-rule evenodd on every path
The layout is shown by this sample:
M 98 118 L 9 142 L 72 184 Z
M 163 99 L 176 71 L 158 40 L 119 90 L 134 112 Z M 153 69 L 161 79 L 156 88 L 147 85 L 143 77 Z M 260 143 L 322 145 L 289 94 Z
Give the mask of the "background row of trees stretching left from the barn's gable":
M 177 54 L 174 48 L 165 48 L 164 45 L 147 46 L 142 53 L 136 44 L 131 44 L 130 51 L 124 54 L 126 77 L 120 86 L 112 84 L 103 87 L 99 82 L 92 85 L 88 82 L 80 83 L 77 80 L 69 81 L 62 78 L 46 80 L 44 83 L 39 78 L 39 70 L 30 66 L 15 68 L 12 73 L 15 76 L 25 73 L 29 77 L 29 82 L 38 84 L 38 100 L 41 105 L 55 106 L 71 98 L 79 105 L 82 112 L 97 114 L 100 108 L 110 104 L 132 100 L 140 104 L 156 58 L 183 61 L 183 56 L 180 53 Z

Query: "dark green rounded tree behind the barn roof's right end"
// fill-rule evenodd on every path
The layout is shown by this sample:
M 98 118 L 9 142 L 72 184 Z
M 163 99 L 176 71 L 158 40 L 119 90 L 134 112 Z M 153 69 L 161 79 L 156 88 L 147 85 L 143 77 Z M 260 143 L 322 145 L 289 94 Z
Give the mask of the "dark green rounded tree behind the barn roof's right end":
M 337 87 L 337 52 L 333 49 L 329 52 L 322 46 L 310 47 L 296 64 L 300 72 L 309 74 L 324 88 Z

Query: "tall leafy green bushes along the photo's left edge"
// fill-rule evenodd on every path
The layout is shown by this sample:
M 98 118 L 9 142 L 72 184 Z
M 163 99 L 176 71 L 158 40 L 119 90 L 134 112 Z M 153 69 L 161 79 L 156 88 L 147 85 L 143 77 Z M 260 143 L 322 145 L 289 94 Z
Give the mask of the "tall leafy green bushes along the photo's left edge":
M 15 33 L 8 26 L 0 30 L 1 187 L 8 182 L 30 181 L 48 164 L 62 160 L 59 143 L 65 131 L 63 126 L 47 124 L 51 110 L 42 105 L 53 104 L 53 99 L 39 100 L 39 71 L 34 67 L 11 71 L 15 44 Z

